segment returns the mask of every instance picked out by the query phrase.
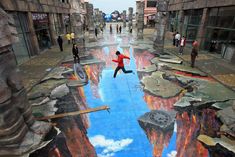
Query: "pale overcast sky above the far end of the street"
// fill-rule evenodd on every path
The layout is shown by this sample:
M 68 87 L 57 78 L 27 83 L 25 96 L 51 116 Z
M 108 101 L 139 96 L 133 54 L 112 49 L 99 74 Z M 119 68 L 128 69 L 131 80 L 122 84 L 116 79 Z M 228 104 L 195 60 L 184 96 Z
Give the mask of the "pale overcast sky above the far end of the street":
M 118 10 L 120 13 L 123 10 L 127 11 L 128 8 L 133 7 L 135 12 L 136 0 L 89 0 L 94 5 L 94 8 L 99 8 L 106 14 L 112 13 L 114 10 Z

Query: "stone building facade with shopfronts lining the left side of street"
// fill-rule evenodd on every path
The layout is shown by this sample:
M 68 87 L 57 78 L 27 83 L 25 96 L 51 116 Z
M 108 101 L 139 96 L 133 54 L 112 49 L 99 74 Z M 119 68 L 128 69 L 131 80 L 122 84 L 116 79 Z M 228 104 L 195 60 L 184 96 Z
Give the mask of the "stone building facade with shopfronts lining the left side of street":
M 13 45 L 21 64 L 56 44 L 58 35 L 71 32 L 70 16 L 81 12 L 80 0 L 4 0 L 0 7 L 13 16 L 19 42 Z

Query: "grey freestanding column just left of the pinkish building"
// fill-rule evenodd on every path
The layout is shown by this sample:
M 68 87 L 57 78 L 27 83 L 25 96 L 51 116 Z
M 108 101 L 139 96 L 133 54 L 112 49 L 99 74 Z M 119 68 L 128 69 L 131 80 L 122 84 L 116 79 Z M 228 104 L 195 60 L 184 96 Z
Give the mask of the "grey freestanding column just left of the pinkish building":
M 144 31 L 144 1 L 136 1 L 137 39 L 143 39 Z

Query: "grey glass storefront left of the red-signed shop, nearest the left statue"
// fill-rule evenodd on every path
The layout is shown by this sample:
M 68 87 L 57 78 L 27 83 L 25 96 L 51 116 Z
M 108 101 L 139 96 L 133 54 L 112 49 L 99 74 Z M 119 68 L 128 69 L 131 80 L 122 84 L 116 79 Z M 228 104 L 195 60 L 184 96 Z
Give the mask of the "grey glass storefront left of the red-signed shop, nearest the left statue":
M 9 12 L 9 14 L 14 18 L 19 38 L 19 41 L 12 45 L 12 48 L 17 64 L 21 64 L 34 55 L 27 13 Z

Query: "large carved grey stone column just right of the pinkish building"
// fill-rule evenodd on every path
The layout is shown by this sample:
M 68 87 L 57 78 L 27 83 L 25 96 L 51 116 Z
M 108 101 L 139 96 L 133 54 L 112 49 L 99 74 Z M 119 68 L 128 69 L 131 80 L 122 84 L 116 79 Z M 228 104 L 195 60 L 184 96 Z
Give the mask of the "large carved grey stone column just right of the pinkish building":
M 165 32 L 168 20 L 168 2 L 167 0 L 157 0 L 157 14 L 155 24 L 154 48 L 159 52 L 164 51 Z

